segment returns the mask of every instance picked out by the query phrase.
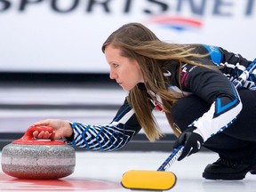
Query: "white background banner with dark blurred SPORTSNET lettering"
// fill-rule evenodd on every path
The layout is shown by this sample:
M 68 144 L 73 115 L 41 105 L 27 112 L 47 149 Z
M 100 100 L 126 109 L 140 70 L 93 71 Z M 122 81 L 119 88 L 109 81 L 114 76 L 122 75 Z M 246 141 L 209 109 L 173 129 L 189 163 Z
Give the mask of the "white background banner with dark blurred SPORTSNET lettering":
M 256 0 L 0 0 L 0 71 L 108 73 L 101 44 L 127 22 L 253 60 L 255 20 Z

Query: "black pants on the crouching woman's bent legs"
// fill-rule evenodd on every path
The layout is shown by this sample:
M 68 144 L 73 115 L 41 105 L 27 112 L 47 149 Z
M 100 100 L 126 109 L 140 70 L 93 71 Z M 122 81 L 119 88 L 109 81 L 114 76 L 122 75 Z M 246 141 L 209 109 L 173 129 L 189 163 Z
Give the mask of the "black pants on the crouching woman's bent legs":
M 228 159 L 252 159 L 256 163 L 256 92 L 239 91 L 243 109 L 236 121 L 223 132 L 204 142 L 204 147 Z M 211 105 L 196 95 L 178 100 L 172 107 L 172 119 L 184 132 L 196 118 L 210 109 Z

